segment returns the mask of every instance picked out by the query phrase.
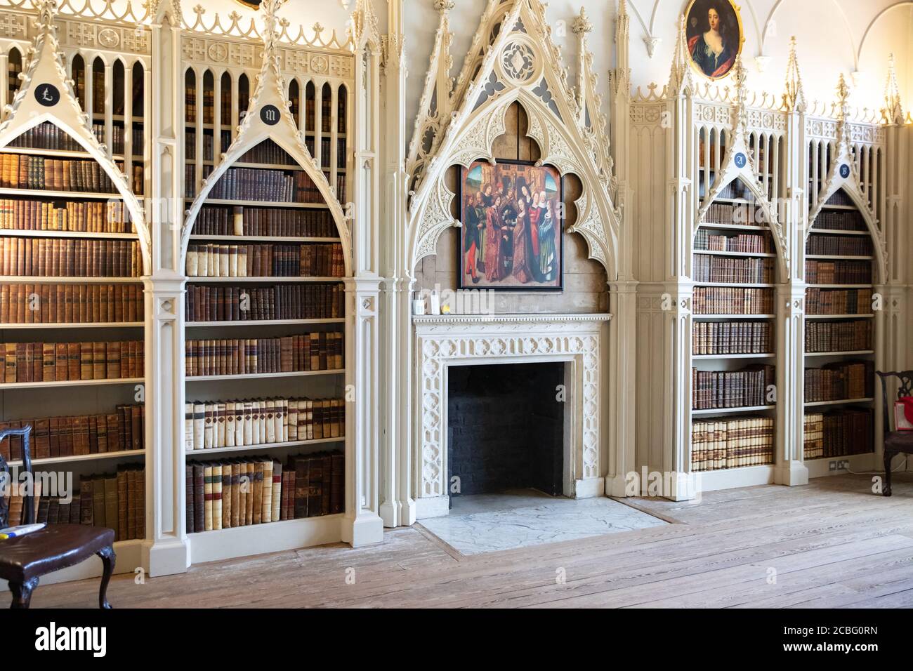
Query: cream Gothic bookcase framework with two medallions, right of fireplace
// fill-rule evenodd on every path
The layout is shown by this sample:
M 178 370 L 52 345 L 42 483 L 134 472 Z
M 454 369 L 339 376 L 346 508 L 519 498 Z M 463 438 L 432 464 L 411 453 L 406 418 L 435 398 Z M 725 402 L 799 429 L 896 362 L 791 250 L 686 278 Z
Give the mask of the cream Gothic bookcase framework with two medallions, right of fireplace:
M 655 190 L 641 188 L 633 215 L 639 231 L 635 241 L 640 279 L 638 339 L 656 343 L 649 351 L 637 351 L 638 380 L 645 381 L 637 390 L 637 463 L 660 472 L 699 473 L 699 484 L 693 488 L 703 490 L 764 483 L 799 485 L 809 477 L 833 473 L 828 462 L 834 459 L 848 459 L 852 470 L 876 468 L 883 430 L 879 413 L 872 424 L 875 451 L 866 449 L 865 454 L 852 456 L 834 452 L 825 439 L 824 458 L 806 458 L 803 424 L 806 413 L 879 407 L 877 386 L 875 393 L 861 398 L 826 403 L 805 404 L 804 393 L 806 368 L 860 360 L 872 362 L 876 370 L 892 370 L 908 361 L 898 316 L 908 300 L 907 289 L 903 271 L 891 270 L 896 265 L 888 263 L 892 252 L 887 245 L 888 240 L 893 241 L 895 253 L 903 254 L 906 240 L 897 205 L 906 175 L 897 171 L 897 159 L 892 158 L 900 155 L 904 125 L 893 68 L 880 113 L 851 110 L 843 79 L 834 104 L 813 110 L 804 99 L 794 40 L 782 96 L 750 93 L 739 63 L 721 86 L 698 81 L 687 58 L 682 21 L 668 84 L 661 92 L 655 86 L 646 94 L 636 91 L 630 106 L 632 144 L 640 150 L 635 152 L 640 163 L 635 172 L 648 175 L 650 183 L 665 180 L 667 189 L 661 200 L 654 197 Z M 732 198 L 733 190 L 740 195 Z M 841 204 L 835 204 L 838 202 Z M 742 215 L 719 221 L 716 205 L 720 203 L 734 204 L 737 215 L 741 207 Z M 822 213 L 841 210 L 857 213 L 858 230 L 845 236 L 816 232 L 821 228 L 815 225 L 818 217 L 825 218 Z M 741 243 L 735 238 L 739 234 L 764 236 L 765 244 L 751 247 L 751 252 L 739 251 Z M 716 240 L 716 246 L 711 246 L 708 236 L 729 236 L 729 240 L 719 243 L 719 237 L 711 238 Z M 806 254 L 810 237 L 825 236 L 866 237 L 871 240 L 871 251 L 842 254 L 850 247 L 840 247 L 834 254 Z M 821 245 L 828 243 L 815 243 L 814 248 Z M 655 248 L 663 248 L 665 253 L 651 255 Z M 708 249 L 713 251 L 708 253 Z M 736 259 L 736 263 L 750 259 L 757 269 L 768 258 L 769 278 L 737 287 L 768 294 L 764 304 L 771 309 L 759 312 L 730 306 L 729 314 L 720 315 L 701 305 L 708 290 L 733 287 L 731 277 L 724 276 L 722 283 L 708 282 L 701 274 L 706 267 L 725 273 L 727 261 L 719 259 Z M 835 280 L 815 285 L 806 278 L 806 262 L 836 262 L 838 271 L 859 262 L 870 266 L 872 277 L 866 276 L 865 268 L 855 267 L 863 277 L 858 285 Z M 823 268 L 813 269 L 821 272 Z M 834 267 L 824 269 L 833 271 Z M 815 290 L 832 289 L 871 290 L 874 309 L 864 305 L 858 317 L 834 315 L 830 320 L 811 314 L 806 292 L 812 296 Z M 743 311 L 749 314 L 731 314 Z M 843 320 L 873 322 L 871 340 L 865 347 L 806 353 L 809 322 Z M 771 331 L 771 349 L 695 354 L 695 347 L 704 347 L 700 338 L 708 322 L 716 328 L 754 322 Z M 891 326 L 886 328 L 886 322 Z M 666 354 L 657 357 L 656 351 Z M 775 367 L 775 383 L 768 388 L 763 404 L 689 412 L 698 404 L 692 389 L 693 370 L 734 371 L 746 363 Z M 718 462 L 716 467 L 703 467 L 699 461 L 696 465 L 694 423 L 707 416 L 729 420 L 741 414 L 774 419 L 771 458 L 750 466 L 727 467 Z M 664 420 L 656 422 L 660 415 Z M 682 487 L 670 495 L 691 498 L 692 492 Z

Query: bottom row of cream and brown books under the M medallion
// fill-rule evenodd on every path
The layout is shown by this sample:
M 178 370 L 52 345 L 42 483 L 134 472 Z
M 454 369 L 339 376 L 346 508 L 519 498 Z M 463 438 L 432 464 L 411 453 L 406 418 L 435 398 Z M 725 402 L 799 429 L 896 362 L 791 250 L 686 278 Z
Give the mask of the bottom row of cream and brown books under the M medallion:
M 336 515 L 345 509 L 342 452 L 289 456 L 284 467 L 263 456 L 188 461 L 184 477 L 188 532 Z

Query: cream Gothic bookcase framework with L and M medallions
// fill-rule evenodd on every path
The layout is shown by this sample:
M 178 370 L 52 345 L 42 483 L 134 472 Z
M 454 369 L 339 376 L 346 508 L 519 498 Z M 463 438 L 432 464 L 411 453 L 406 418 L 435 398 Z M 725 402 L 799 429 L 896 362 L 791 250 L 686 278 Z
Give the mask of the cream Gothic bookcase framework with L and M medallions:
M 37 124 L 56 126 L 78 151 L 27 151 L 100 163 L 116 192 L 105 194 L 104 199 L 121 203 L 136 224 L 132 232 L 123 234 L 67 235 L 131 240 L 142 248 L 142 277 L 85 280 L 141 285 L 144 316 L 135 323 L 2 325 L 6 340 L 10 334 L 34 330 L 34 340 L 40 334 L 48 341 L 145 341 L 146 372 L 141 379 L 93 381 L 86 386 L 92 393 L 83 394 L 87 399 L 72 411 L 64 410 L 76 404 L 61 395 L 68 389 L 63 385 L 0 389 L 4 420 L 38 416 L 37 408 L 46 402 L 59 408 L 46 411 L 48 415 L 102 412 L 102 405 L 134 403 L 134 394 L 135 403 L 144 402 L 142 453 L 54 460 L 78 473 L 110 468 L 110 463 L 116 465 L 128 456 L 144 460 L 145 539 L 119 544 L 119 571 L 142 568 L 162 575 L 185 571 L 193 561 L 339 540 L 358 545 L 382 538 L 377 417 L 371 410 L 378 391 L 379 216 L 378 171 L 373 164 L 380 142 L 379 100 L 372 91 L 380 78 L 382 40 L 370 4 L 355 6 L 352 33 L 346 39 L 327 35 L 320 26 L 306 31 L 279 20 L 282 4 L 267 0 L 257 20 L 249 24 L 235 13 L 227 21 L 217 15 L 210 18 L 200 7 L 193 16 L 183 14 L 177 0 L 152 0 L 142 7 L 83 0 L 5 0 L 2 4 L 0 96 L 10 106 L 0 120 L 0 152 L 26 152 L 10 144 Z M 19 72 L 24 72 L 21 89 Z M 50 107 L 42 106 L 36 97 L 37 87 L 47 84 L 60 93 L 58 103 Z M 185 142 L 188 137 L 190 145 Z M 248 153 L 259 151 L 262 156 L 264 147 L 266 160 Z M 352 179 L 355 164 L 362 166 L 358 180 Z M 310 194 L 303 200 L 309 202 L 288 202 L 298 199 L 286 197 L 276 199 L 281 202 L 263 202 L 263 191 L 247 200 L 223 202 L 212 197 L 219 180 L 238 168 L 281 175 L 278 179 L 299 184 L 299 192 L 306 183 Z M 3 197 L 10 195 L 71 197 L 80 202 L 99 197 L 6 190 Z M 194 233 L 206 206 L 320 213 L 322 235 L 207 237 Z M 45 235 L 63 236 L 0 230 L 0 236 Z M 188 246 L 231 242 L 281 243 L 296 250 L 336 243 L 342 250 L 341 264 L 331 273 L 333 277 L 326 278 L 187 278 Z M 33 279 L 45 278 L 2 278 L 4 282 Z M 317 282 L 341 288 L 341 309 L 332 319 L 202 324 L 187 323 L 184 318 L 185 289 L 194 284 L 257 287 Z M 23 326 L 26 330 L 20 330 Z M 278 337 L 310 330 L 344 331 L 343 369 L 269 380 L 262 376 L 188 380 L 184 374 L 185 339 Z M 32 394 L 26 407 L 13 403 L 12 396 L 7 398 L 14 393 Z M 334 439 L 345 453 L 341 514 L 199 534 L 185 528 L 184 401 L 245 395 L 345 399 L 344 437 Z M 321 446 L 299 441 L 214 456 L 262 452 L 284 460 L 289 454 Z M 206 455 L 194 454 L 194 458 Z M 79 571 L 56 577 L 83 577 L 95 570 L 89 562 Z

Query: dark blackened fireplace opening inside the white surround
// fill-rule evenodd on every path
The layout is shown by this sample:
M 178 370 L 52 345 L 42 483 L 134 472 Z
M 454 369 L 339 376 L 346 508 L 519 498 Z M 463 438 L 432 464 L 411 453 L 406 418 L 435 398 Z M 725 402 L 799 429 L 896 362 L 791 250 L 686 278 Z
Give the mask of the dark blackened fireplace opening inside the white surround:
M 561 495 L 564 364 L 451 366 L 447 374 L 450 496 L 526 488 Z

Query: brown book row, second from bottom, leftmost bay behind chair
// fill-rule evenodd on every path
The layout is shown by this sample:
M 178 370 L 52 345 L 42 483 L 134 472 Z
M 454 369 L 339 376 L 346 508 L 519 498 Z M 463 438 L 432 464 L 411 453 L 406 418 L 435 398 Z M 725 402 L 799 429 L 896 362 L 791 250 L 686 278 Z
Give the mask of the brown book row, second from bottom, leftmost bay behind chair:
M 0 430 L 32 427 L 31 456 L 47 459 L 142 450 L 145 446 L 146 409 L 143 405 L 118 405 L 109 414 L 18 419 L 0 423 Z M 6 460 L 22 458 L 22 438 L 0 441 Z

